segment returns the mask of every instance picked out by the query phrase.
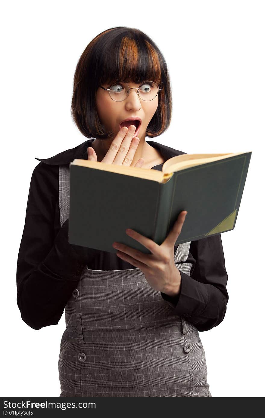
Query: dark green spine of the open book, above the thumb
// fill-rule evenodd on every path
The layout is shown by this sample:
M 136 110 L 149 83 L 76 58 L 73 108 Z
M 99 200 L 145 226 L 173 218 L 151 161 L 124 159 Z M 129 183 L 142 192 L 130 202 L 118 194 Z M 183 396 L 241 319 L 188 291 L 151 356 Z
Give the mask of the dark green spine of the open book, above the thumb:
M 154 219 L 153 241 L 161 245 L 168 234 L 170 213 L 172 206 L 172 195 L 175 184 L 173 175 L 166 183 L 160 183 L 157 199 L 157 211 Z

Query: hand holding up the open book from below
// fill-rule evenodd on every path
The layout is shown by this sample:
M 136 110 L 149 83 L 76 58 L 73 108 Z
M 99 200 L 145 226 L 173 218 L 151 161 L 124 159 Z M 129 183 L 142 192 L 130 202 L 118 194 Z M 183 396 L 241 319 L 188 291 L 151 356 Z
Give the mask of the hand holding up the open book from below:
M 127 235 L 144 245 L 152 254 L 144 254 L 127 245 L 113 242 L 113 248 L 119 250 L 118 257 L 142 270 L 144 277 L 153 289 L 170 296 L 176 296 L 180 292 L 181 276 L 174 262 L 174 245 L 180 235 L 187 213 L 187 211 L 180 212 L 174 227 L 161 245 L 157 245 L 133 229 L 131 229 L 131 233 L 126 229 Z

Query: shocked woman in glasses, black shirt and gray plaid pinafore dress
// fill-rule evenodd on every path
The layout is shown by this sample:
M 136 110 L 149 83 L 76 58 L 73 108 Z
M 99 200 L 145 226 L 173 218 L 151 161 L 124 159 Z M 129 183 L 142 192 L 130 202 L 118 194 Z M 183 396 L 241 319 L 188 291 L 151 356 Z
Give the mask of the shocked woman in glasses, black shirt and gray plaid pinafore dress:
M 198 331 L 220 324 L 226 312 L 220 234 L 175 245 L 182 211 L 160 246 L 131 232 L 148 255 L 118 243 L 119 251 L 109 253 L 68 242 L 69 163 L 83 158 L 161 171 L 184 153 L 146 141 L 169 126 L 171 103 L 167 65 L 155 43 L 137 29 L 108 29 L 88 44 L 75 71 L 72 117 L 90 139 L 37 158 L 17 301 L 34 329 L 58 324 L 65 308 L 62 397 L 211 397 Z

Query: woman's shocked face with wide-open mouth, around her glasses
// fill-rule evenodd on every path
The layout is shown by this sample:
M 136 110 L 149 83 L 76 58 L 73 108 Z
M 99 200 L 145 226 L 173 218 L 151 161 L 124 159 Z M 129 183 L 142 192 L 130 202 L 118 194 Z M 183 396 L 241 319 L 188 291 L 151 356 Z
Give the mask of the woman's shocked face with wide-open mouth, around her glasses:
M 129 87 L 139 87 L 139 84 L 127 83 Z M 110 88 L 107 84 L 101 84 L 105 89 Z M 159 92 L 157 96 L 150 101 L 141 100 L 137 94 L 137 90 L 131 90 L 129 96 L 122 102 L 115 102 L 111 99 L 109 92 L 98 88 L 96 92 L 96 109 L 101 124 L 106 131 L 112 130 L 114 137 L 120 130 L 120 123 L 128 117 L 140 117 L 142 124 L 140 126 L 137 137 L 145 140 L 147 126 L 157 110 L 159 100 Z

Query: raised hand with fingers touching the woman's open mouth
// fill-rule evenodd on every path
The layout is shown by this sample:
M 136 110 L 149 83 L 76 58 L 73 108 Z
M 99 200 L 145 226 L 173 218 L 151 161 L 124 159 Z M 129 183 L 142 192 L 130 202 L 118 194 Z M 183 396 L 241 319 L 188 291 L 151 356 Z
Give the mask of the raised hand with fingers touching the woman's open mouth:
M 135 130 L 136 126 L 134 125 L 130 125 L 129 130 L 126 126 L 120 129 L 101 162 L 105 164 L 116 164 L 118 166 L 131 166 L 135 151 L 140 142 L 137 136 L 131 140 L 131 138 L 134 136 Z M 87 160 L 97 161 L 97 154 L 95 153 L 93 147 L 87 148 Z M 140 158 L 132 167 L 141 168 L 143 163 L 143 158 Z

